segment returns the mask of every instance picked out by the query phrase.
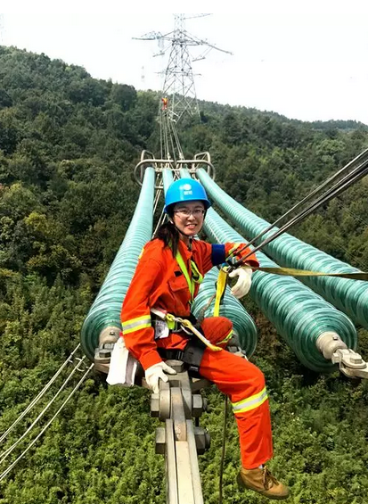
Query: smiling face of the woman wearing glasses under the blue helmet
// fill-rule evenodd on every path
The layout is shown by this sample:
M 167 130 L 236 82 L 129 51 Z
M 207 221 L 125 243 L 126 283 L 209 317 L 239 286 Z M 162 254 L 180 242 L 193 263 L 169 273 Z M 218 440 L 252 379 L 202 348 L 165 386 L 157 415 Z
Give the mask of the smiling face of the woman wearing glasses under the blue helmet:
M 185 243 L 189 243 L 189 238 L 200 232 L 204 214 L 205 208 L 200 201 L 176 203 L 172 219 Z

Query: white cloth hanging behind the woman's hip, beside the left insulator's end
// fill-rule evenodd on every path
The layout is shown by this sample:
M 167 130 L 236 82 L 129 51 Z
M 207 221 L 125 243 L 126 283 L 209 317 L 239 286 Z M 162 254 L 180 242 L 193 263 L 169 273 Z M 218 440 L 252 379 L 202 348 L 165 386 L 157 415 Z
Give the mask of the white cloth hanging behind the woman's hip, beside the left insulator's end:
M 106 381 L 110 385 L 131 387 L 135 384 L 138 361 L 129 353 L 124 338 L 119 336 L 111 353 L 109 374 Z

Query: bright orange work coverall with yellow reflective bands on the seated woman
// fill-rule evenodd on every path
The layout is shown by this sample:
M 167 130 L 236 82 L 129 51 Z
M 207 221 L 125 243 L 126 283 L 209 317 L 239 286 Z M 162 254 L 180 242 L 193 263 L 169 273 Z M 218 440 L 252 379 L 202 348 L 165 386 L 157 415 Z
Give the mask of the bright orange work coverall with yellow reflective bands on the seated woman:
M 225 262 L 229 253 L 238 246 L 243 244 L 211 245 L 193 240 L 192 250 L 189 250 L 180 240 L 178 251 L 192 276 L 190 260 L 204 275 L 213 266 Z M 241 254 L 247 252 L 249 250 L 244 250 Z M 247 262 L 258 266 L 254 254 L 247 258 Z M 197 284 L 193 297 L 198 289 Z M 159 239 L 144 246 L 121 310 L 127 349 L 140 361 L 144 370 L 162 360 L 158 347 L 183 350 L 188 342 L 184 333 L 171 333 L 168 337 L 155 340 L 150 312 L 153 307 L 179 317 L 189 317 L 191 312 L 191 293 L 183 271 L 171 249 Z M 225 347 L 231 338 L 233 324 L 224 317 L 211 317 L 203 320 L 201 329 L 211 343 Z M 240 436 L 242 466 L 252 469 L 271 459 L 271 421 L 263 373 L 249 360 L 229 351 L 206 348 L 200 363 L 200 375 L 217 384 L 232 402 Z

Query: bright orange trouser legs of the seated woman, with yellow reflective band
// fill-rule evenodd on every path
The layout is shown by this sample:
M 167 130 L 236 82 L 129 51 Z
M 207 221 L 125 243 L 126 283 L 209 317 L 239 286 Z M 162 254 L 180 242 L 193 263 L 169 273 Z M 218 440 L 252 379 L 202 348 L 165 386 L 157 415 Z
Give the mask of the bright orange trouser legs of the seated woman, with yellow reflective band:
M 211 343 L 219 344 L 231 332 L 232 322 L 224 317 L 211 317 L 206 318 L 201 327 Z M 265 376 L 260 369 L 229 351 L 206 349 L 200 364 L 200 375 L 214 382 L 233 404 L 242 466 L 252 469 L 271 459 L 271 419 Z

